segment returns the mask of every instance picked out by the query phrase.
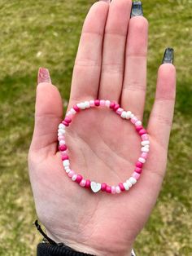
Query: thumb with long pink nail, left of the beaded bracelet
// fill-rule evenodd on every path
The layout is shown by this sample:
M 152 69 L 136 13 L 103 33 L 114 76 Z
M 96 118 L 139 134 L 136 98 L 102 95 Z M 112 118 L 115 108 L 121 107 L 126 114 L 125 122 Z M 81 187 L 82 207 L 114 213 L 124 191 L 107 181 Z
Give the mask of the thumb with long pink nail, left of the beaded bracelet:
M 30 149 L 57 151 L 57 126 L 63 116 L 63 104 L 59 90 L 50 83 L 49 71 L 40 68 L 35 106 L 35 127 Z

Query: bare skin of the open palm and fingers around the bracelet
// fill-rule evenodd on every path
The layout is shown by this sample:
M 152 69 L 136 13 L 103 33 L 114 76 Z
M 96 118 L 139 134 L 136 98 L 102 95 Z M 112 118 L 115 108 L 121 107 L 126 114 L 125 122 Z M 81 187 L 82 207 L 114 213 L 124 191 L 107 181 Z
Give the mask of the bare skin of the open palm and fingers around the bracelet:
M 131 5 L 129 0 L 113 0 L 96 2 L 90 8 L 76 55 L 68 108 L 87 99 L 110 99 L 142 120 L 148 23 L 142 16 L 129 20 Z M 64 173 L 57 149 L 62 99 L 50 82 L 38 84 L 28 166 L 37 216 L 48 236 L 89 254 L 130 254 L 164 179 L 175 86 L 174 66 L 162 64 L 147 125 L 151 152 L 141 179 L 129 192 L 109 195 L 80 188 Z M 133 125 L 107 109 L 78 114 L 66 141 L 73 170 L 111 185 L 129 178 L 140 154 Z

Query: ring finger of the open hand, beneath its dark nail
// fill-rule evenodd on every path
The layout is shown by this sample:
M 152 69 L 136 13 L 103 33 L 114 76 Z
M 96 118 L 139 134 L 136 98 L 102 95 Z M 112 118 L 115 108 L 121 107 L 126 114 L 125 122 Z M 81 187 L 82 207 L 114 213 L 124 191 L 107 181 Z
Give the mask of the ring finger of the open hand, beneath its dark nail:
M 148 21 L 141 15 L 134 16 L 129 22 L 121 105 L 140 120 L 146 96 L 147 41 Z

